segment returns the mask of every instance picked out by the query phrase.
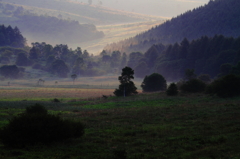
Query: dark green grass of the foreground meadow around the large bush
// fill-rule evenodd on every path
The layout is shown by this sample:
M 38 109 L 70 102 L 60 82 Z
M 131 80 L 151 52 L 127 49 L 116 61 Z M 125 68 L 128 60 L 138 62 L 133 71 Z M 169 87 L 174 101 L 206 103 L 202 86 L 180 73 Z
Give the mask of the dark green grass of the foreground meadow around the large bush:
M 240 158 L 240 98 L 145 94 L 43 104 L 51 113 L 83 122 L 85 135 L 23 149 L 2 145 L 0 158 Z M 0 127 L 24 110 L 14 106 L 0 109 Z

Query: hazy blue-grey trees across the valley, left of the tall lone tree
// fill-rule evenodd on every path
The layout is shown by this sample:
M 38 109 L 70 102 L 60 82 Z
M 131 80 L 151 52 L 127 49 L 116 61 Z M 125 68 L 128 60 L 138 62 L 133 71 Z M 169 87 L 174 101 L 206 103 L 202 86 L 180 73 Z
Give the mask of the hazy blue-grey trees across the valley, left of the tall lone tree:
M 26 67 L 40 69 L 58 77 L 66 78 L 75 74 L 81 76 L 99 76 L 117 73 L 126 66 L 127 55 L 118 51 L 93 56 L 87 50 L 68 45 L 52 46 L 45 42 L 32 43 L 32 47 L 0 47 L 0 74 L 6 78 L 31 77 L 24 73 Z

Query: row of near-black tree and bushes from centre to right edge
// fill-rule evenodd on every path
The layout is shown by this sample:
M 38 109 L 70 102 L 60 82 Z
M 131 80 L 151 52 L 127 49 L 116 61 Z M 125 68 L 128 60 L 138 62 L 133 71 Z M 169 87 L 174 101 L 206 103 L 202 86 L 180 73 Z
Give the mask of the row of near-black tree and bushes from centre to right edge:
M 116 96 L 126 97 L 138 93 L 132 81 L 134 79 L 134 70 L 132 68 L 123 68 L 121 76 L 118 79 L 120 85 L 114 91 Z M 187 69 L 185 71 L 185 78 L 178 81 L 177 84 L 171 83 L 168 88 L 166 79 L 161 74 L 153 73 L 144 78 L 141 87 L 143 92 L 166 91 L 166 94 L 169 96 L 176 96 L 181 91 L 182 93 L 205 92 L 221 98 L 235 97 L 240 95 L 240 71 L 238 74 L 236 72 L 235 74 L 229 72 L 227 75 L 211 81 L 208 75 L 197 77 L 193 69 Z

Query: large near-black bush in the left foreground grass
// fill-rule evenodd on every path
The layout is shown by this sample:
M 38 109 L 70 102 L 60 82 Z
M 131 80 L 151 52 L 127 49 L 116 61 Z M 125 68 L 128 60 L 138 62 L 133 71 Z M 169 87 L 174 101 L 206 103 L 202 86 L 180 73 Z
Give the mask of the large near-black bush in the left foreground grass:
M 63 120 L 47 113 L 36 113 L 36 110 L 44 112 L 39 108 L 39 105 L 33 106 L 26 113 L 11 119 L 0 130 L 0 141 L 5 146 L 23 147 L 81 137 L 84 134 L 84 126 L 80 122 Z

